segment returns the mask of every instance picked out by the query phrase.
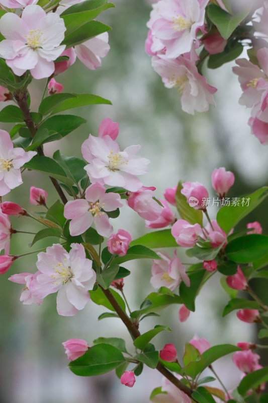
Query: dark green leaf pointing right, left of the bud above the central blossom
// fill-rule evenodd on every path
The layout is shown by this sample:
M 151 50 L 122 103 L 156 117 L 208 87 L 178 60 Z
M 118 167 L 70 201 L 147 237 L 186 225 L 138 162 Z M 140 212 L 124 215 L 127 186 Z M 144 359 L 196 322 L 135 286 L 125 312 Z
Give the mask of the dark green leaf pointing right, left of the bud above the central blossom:
M 86 120 L 80 116 L 75 115 L 57 115 L 48 117 L 44 120 L 39 130 L 45 128 L 48 131 L 53 130 L 56 133 L 50 137 L 49 141 L 60 140 L 67 136 L 71 131 L 75 130 L 81 124 L 86 123 Z

